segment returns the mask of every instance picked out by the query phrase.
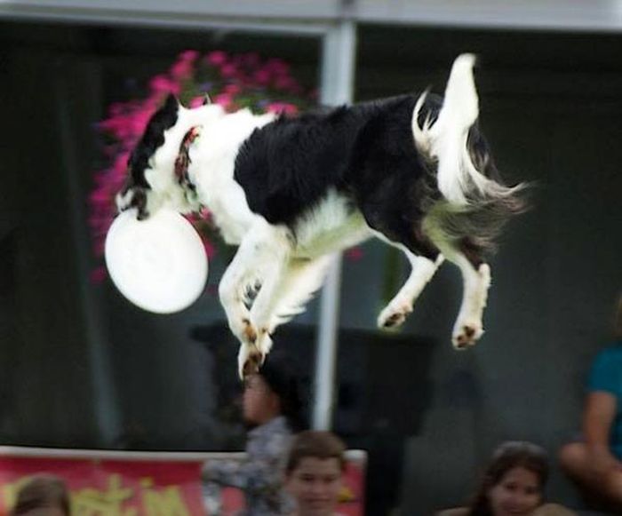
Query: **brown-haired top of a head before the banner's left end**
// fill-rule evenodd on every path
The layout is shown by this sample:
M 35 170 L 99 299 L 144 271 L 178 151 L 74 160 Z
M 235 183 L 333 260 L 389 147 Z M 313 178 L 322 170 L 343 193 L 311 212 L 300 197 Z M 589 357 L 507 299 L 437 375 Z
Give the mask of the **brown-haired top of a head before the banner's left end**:
M 38 474 L 17 493 L 11 516 L 70 516 L 68 489 L 63 480 Z

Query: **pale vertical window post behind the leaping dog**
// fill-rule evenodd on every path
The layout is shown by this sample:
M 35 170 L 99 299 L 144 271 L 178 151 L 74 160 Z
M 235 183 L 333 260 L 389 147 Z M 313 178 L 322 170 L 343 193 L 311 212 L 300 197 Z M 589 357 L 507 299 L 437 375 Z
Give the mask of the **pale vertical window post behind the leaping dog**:
M 335 106 L 352 102 L 355 52 L 356 28 L 352 20 L 341 20 L 324 35 L 321 80 L 321 100 L 324 105 Z M 340 286 L 341 254 L 335 253 L 320 299 L 312 421 L 315 430 L 331 429 L 335 401 Z

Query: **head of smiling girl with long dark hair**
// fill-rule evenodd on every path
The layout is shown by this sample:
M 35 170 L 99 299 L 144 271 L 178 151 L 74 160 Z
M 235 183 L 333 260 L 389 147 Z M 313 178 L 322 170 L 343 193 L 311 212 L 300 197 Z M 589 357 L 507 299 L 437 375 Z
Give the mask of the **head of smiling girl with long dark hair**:
M 508 441 L 495 450 L 472 504 L 472 516 L 529 516 L 543 502 L 548 478 L 544 449 Z

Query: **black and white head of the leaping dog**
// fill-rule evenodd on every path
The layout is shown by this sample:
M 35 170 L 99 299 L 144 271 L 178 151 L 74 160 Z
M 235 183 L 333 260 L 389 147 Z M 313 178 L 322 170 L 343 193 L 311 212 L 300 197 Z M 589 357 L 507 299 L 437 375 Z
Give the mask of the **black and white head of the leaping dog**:
M 140 219 L 163 206 L 179 213 L 199 210 L 195 186 L 187 171 L 179 171 L 179 163 L 187 160 L 187 146 L 196 128 L 222 115 L 224 111 L 218 105 L 206 102 L 202 107 L 186 109 L 169 95 L 149 119 L 130 155 L 127 179 L 116 195 L 118 210 L 136 208 Z

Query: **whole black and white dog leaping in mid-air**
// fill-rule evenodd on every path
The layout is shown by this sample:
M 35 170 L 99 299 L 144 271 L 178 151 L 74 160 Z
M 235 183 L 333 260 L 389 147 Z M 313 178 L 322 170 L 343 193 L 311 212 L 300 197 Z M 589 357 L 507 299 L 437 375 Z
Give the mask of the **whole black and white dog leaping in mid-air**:
M 423 93 L 275 116 L 186 109 L 170 97 L 153 115 L 118 208 L 147 218 L 163 206 L 207 207 L 225 241 L 239 246 L 219 297 L 242 343 L 241 376 L 321 287 L 330 253 L 371 236 L 403 250 L 412 267 L 379 327 L 404 321 L 447 258 L 464 279 L 453 345 L 482 336 L 483 255 L 522 210 L 523 185 L 504 186 L 477 128 L 473 66 L 474 56 L 459 56 L 444 99 Z

